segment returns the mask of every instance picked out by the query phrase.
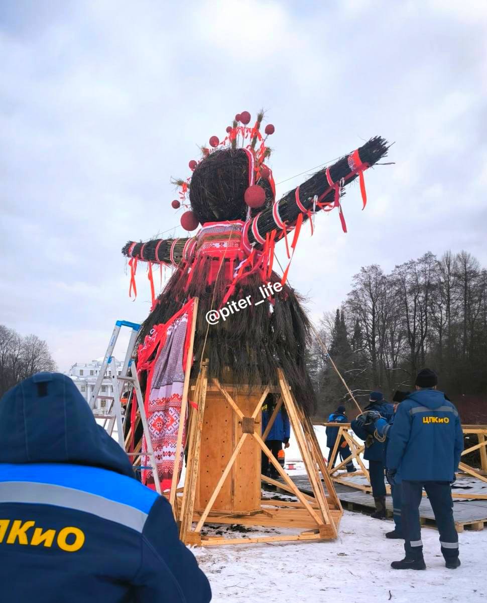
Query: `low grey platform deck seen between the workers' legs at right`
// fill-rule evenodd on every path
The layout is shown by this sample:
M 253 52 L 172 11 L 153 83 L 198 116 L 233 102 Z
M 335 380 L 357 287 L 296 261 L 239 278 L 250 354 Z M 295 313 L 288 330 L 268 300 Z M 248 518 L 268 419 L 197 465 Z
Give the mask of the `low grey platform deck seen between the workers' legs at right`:
M 306 476 L 293 476 L 292 481 L 304 493 L 310 491 Z M 374 510 L 374 499 L 371 494 L 356 490 L 342 484 L 336 484 L 336 493 L 342 502 L 344 508 L 349 511 L 369 512 Z M 386 507 L 388 516 L 392 518 L 392 498 L 386 497 Z M 419 505 L 419 517 L 421 524 L 436 528 L 435 515 L 430 502 L 426 496 L 423 497 Z M 453 517 L 457 532 L 463 532 L 464 529 L 475 531 L 487 527 L 487 500 L 454 500 Z

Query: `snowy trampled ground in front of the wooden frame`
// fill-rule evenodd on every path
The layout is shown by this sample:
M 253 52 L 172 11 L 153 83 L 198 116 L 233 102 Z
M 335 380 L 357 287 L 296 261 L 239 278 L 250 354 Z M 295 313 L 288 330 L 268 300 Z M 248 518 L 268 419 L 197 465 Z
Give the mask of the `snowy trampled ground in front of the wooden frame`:
M 391 521 L 345 511 L 336 541 L 192 549 L 213 603 L 402 603 L 487 601 L 487 530 L 459 534 L 462 566 L 448 570 L 438 532 L 423 529 L 426 572 L 398 571 L 403 541 L 386 540 Z M 272 534 L 284 533 L 272 530 Z M 241 536 L 242 534 L 236 534 Z M 256 535 L 256 534 L 249 534 Z

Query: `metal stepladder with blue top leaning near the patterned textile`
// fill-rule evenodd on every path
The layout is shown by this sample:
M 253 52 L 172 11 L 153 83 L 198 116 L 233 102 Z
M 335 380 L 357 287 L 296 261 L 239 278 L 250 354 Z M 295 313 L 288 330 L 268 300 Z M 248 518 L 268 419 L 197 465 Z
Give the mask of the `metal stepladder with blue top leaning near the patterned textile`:
M 125 352 L 124 364 L 121 370 L 116 366 L 113 351 L 121 333 L 122 327 L 131 329 L 130 339 L 128 341 L 127 351 Z M 97 419 L 103 421 L 103 427 L 110 436 L 113 437 L 113 431 L 116 426 L 117 440 L 122 449 L 125 450 L 124 423 L 126 420 L 125 412 L 122 405 L 122 397 L 125 399 L 125 408 L 128 408 L 128 400 L 132 400 L 132 404 L 136 405 L 136 412 L 142 423 L 143 437 L 145 438 L 145 450 L 140 452 L 127 452 L 132 458 L 140 457 L 140 466 L 143 468 L 143 463 L 148 461 L 149 466 L 146 469 L 151 469 L 153 475 L 157 475 L 156 456 L 152 447 L 149 425 L 145 412 L 145 404 L 140 389 L 139 378 L 137 377 L 137 368 L 133 358 L 134 347 L 139 335 L 140 324 L 131 323 L 127 320 L 118 320 L 115 323 L 110 342 L 108 343 L 107 351 L 104 355 L 101 368 L 96 379 L 95 387 L 90 396 L 89 405 L 93 411 L 93 415 Z M 110 379 L 112 382 L 112 396 L 100 394 L 102 383 L 105 379 Z M 96 400 L 98 398 L 107 399 L 110 401 L 105 412 L 96 411 Z M 134 465 L 135 466 L 135 465 Z M 161 493 L 159 480 L 154 480 L 156 491 Z

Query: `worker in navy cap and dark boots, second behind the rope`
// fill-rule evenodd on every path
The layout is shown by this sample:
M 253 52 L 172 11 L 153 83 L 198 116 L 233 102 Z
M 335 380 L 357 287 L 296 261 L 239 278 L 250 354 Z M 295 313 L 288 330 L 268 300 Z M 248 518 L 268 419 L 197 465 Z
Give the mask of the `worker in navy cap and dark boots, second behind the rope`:
M 394 408 L 384 400 L 384 396 L 380 391 L 372 391 L 369 396 L 369 404 L 365 407 L 365 411 L 379 412 L 380 416 L 387 421 L 391 420 L 394 415 Z M 365 451 L 363 458 L 369 461 L 370 484 L 372 486 L 372 496 L 374 497 L 375 513 L 371 514 L 374 519 L 385 519 L 386 517 L 386 483 L 385 483 L 385 463 L 383 441 L 378 441 L 360 426 L 355 419 L 351 422 L 351 428 L 354 433 L 361 439 L 365 440 Z

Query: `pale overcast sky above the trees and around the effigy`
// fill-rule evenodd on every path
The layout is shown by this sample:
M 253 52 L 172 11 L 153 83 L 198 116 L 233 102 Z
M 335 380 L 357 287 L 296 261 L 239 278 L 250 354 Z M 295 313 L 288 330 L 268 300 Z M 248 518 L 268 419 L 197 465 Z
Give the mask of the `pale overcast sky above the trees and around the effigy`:
M 365 211 L 348 187 L 347 235 L 331 212 L 300 236 L 289 281 L 314 320 L 362 265 L 464 248 L 485 266 L 486 92 L 485 0 L 2 0 L 0 323 L 63 371 L 101 356 L 115 320 L 149 311 L 122 245 L 184 236 L 170 177 L 260 107 L 276 182 L 395 142 Z

